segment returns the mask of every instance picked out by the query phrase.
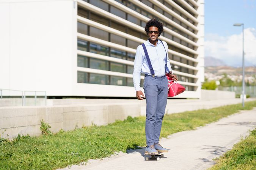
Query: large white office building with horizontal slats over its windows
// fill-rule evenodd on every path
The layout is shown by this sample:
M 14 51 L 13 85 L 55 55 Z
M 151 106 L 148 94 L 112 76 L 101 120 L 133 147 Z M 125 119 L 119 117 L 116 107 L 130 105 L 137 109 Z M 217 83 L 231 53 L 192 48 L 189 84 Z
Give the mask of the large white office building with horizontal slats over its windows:
M 0 88 L 135 97 L 133 60 L 153 17 L 164 23 L 160 39 L 187 89 L 177 98 L 199 98 L 204 0 L 1 0 Z

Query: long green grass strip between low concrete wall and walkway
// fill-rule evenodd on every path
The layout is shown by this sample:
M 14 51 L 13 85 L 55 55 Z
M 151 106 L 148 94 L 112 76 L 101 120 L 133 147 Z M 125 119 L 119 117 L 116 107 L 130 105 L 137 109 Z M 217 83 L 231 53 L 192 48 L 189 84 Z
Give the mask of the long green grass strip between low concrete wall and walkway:
M 245 110 L 256 107 L 246 102 Z M 209 110 L 165 115 L 161 137 L 193 130 L 243 110 L 241 104 Z M 106 126 L 92 126 L 39 137 L 18 136 L 13 141 L 0 139 L 0 169 L 56 169 L 88 159 L 104 158 L 115 151 L 145 146 L 145 117 L 127 117 Z

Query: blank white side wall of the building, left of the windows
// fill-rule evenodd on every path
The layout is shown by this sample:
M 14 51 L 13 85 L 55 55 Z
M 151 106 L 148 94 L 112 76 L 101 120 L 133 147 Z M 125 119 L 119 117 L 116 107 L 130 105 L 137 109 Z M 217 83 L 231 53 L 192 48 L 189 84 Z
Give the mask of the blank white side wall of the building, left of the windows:
M 0 25 L 0 88 L 72 95 L 77 81 L 73 0 L 1 0 Z

